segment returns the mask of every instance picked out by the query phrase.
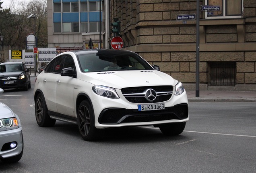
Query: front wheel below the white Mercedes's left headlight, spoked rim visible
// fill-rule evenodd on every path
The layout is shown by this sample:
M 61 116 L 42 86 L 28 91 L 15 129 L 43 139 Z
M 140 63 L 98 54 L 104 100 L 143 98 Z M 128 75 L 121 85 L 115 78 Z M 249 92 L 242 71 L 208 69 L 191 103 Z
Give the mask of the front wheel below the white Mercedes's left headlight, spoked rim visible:
M 93 109 L 88 101 L 82 101 L 79 105 L 77 121 L 81 137 L 85 141 L 95 141 L 99 129 L 95 128 Z

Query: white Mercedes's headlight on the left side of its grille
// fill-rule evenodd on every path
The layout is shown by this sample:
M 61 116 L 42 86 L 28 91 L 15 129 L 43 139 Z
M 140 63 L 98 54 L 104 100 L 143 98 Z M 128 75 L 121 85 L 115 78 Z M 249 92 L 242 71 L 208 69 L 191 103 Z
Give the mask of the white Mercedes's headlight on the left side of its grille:
M 103 97 L 108 97 L 111 99 L 119 99 L 118 94 L 116 93 L 116 90 L 114 88 L 105 87 L 101 85 L 95 85 L 93 86 L 93 92 L 97 95 L 101 95 Z

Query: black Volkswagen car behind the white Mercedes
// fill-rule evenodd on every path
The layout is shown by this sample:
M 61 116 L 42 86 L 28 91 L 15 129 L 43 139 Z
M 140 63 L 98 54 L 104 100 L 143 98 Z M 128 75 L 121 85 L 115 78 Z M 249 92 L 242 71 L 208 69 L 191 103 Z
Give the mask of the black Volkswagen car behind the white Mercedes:
M 0 64 L 0 88 L 23 89 L 31 88 L 29 69 L 23 62 L 3 62 Z

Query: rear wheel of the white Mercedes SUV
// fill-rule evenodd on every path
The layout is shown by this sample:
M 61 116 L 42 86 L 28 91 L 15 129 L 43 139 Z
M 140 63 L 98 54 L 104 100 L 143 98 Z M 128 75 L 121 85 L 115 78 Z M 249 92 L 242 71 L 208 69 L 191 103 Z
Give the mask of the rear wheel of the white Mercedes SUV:
M 51 119 L 48 115 L 48 110 L 43 95 L 37 95 L 35 100 L 35 118 L 40 127 L 51 127 L 56 120 Z

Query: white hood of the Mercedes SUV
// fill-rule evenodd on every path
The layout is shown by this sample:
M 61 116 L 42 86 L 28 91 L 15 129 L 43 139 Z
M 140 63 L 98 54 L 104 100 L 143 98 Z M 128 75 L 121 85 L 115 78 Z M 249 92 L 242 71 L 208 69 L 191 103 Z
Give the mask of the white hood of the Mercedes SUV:
M 178 80 L 157 70 L 90 72 L 83 73 L 81 75 L 81 80 L 88 81 L 94 85 L 103 85 L 116 89 L 159 84 L 175 86 L 178 83 Z

